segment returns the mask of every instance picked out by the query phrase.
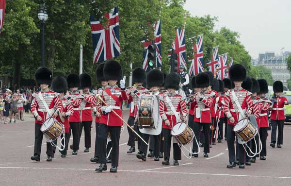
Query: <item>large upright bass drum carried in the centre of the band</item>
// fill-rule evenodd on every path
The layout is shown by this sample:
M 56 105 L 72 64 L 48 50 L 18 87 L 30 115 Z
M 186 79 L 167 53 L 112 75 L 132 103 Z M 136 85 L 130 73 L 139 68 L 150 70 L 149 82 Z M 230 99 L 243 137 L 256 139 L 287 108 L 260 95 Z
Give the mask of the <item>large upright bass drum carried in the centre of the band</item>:
M 157 129 L 159 124 L 159 96 L 141 95 L 137 104 L 137 126 L 140 129 Z

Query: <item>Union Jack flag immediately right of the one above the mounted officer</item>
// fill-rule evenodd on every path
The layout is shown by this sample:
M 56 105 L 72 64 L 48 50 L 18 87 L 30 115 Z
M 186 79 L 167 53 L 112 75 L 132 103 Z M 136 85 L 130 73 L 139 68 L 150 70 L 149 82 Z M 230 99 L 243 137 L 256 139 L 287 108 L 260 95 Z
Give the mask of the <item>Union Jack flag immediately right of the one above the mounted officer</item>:
M 194 44 L 194 59 L 191 60 L 189 76 L 197 75 L 203 71 L 203 35 L 198 35 L 197 42 Z

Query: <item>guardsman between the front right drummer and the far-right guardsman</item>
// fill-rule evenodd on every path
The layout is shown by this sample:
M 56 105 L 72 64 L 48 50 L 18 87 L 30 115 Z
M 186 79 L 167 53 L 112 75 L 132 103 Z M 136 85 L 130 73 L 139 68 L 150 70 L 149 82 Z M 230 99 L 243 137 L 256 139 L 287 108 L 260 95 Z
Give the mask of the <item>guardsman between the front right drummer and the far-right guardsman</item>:
M 267 133 L 269 128 L 269 118 L 268 111 L 271 105 L 271 101 L 268 100 L 265 96 L 269 92 L 268 83 L 264 79 L 259 79 L 259 97 L 263 100 L 263 107 L 259 113 L 259 137 L 262 142 L 262 151 L 259 154 L 260 160 L 266 160 L 267 155 Z

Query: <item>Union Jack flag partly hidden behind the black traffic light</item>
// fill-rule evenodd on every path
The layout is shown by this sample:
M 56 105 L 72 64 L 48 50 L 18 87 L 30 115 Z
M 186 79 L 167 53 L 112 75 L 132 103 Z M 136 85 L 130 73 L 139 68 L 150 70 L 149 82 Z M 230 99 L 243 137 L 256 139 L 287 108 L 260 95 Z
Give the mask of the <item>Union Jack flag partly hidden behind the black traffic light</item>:
M 155 45 L 156 45 L 156 67 L 161 67 L 162 66 L 162 51 L 161 51 L 161 47 L 162 47 L 162 36 L 161 36 L 161 20 L 158 20 L 157 24 L 154 25 L 155 28 Z M 152 44 L 151 41 L 146 42 L 146 40 L 142 40 L 143 46 L 145 48 L 145 51 L 143 52 L 143 57 L 144 57 L 144 61 L 143 61 L 143 68 L 145 70 L 149 70 L 150 68 L 147 67 L 147 47 L 148 45 Z

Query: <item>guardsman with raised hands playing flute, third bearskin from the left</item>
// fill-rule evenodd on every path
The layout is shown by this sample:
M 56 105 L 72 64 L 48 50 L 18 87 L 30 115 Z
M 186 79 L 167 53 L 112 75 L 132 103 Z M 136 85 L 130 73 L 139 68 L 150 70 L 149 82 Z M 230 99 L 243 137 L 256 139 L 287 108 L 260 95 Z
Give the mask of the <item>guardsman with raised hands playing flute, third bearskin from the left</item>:
M 74 114 L 69 118 L 70 134 L 73 134 L 73 145 L 70 145 L 70 149 L 73 150 L 73 155 L 77 155 L 79 150 L 79 128 L 81 122 L 79 106 L 83 99 L 81 94 L 78 92 L 80 78 L 77 74 L 69 74 L 67 77 L 67 83 L 69 87 L 69 93 L 65 95 L 65 98 L 71 101 L 74 107 Z

